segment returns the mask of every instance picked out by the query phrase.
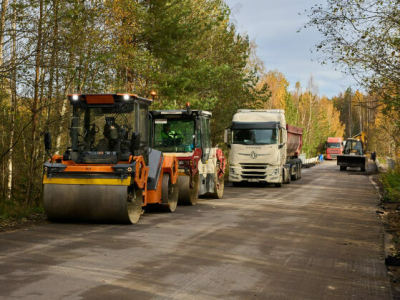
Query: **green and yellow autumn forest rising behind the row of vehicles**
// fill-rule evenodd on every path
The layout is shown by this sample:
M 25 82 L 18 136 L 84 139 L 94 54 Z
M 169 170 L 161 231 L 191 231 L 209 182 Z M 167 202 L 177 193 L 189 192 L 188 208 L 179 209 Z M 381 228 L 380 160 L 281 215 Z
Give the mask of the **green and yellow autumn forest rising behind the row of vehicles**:
M 317 13 L 310 11 L 310 26 Z M 328 136 L 361 130 L 378 155 L 398 148 L 393 110 L 376 89 L 328 99 L 312 76 L 307 86 L 288 88 L 284 74 L 257 57 L 255 42 L 237 32 L 223 0 L 2 0 L 0 208 L 40 206 L 44 132 L 63 153 L 70 93 L 150 97 L 155 90 L 152 109 L 190 102 L 213 112 L 214 145 L 222 145 L 237 109 L 275 108 L 303 128 L 308 157 L 322 153 Z

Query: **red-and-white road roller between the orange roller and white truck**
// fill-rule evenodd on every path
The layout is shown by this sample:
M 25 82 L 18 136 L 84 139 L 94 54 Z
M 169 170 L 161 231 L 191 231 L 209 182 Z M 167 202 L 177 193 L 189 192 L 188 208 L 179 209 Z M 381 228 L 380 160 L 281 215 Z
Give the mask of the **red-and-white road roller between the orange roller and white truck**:
M 151 145 L 179 160 L 179 204 L 196 205 L 199 195 L 222 198 L 226 159 L 211 146 L 212 113 L 191 109 L 150 111 Z

